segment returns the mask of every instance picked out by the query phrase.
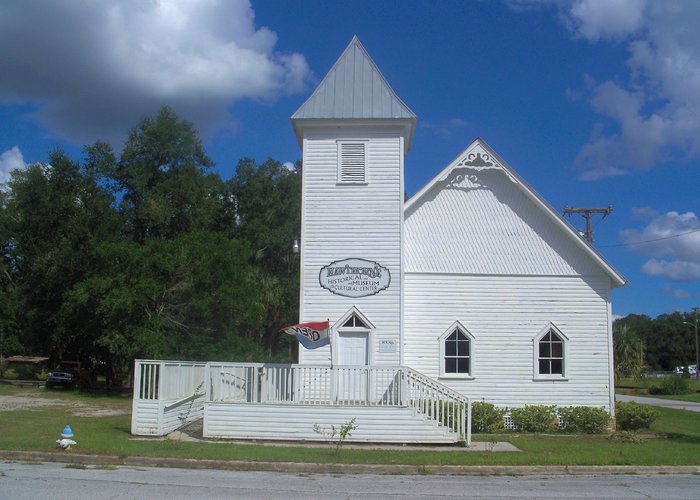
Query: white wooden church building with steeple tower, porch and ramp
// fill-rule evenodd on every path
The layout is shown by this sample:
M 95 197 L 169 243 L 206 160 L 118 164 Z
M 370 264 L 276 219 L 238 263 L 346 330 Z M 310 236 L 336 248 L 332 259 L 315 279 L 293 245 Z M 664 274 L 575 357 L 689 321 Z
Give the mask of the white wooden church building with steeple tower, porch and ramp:
M 331 345 L 291 366 L 139 361 L 132 432 L 169 432 L 187 407 L 209 437 L 352 421 L 354 441 L 468 442 L 475 400 L 614 412 L 625 279 L 485 141 L 405 201 L 416 117 L 357 38 L 292 124 L 300 322 L 328 319 Z

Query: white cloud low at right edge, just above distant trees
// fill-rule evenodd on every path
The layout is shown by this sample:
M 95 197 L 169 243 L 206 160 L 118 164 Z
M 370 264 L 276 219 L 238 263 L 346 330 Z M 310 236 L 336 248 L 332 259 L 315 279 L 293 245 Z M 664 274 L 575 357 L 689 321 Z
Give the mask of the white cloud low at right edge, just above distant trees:
M 644 229 L 627 229 L 621 236 L 634 251 L 651 257 L 643 273 L 673 281 L 700 280 L 700 219 L 695 213 L 667 212 Z

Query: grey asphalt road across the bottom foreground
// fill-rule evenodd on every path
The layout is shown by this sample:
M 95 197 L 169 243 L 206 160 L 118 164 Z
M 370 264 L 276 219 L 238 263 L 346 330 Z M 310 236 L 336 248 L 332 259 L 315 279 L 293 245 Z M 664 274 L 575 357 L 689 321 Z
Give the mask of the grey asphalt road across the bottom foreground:
M 331 475 L 0 462 L 0 499 L 44 498 L 700 499 L 700 476 Z

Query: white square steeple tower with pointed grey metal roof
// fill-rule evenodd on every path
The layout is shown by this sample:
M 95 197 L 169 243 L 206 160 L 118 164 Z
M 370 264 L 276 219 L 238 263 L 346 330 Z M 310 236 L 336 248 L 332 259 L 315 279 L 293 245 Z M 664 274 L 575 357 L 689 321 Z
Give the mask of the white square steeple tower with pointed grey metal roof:
M 334 364 L 401 363 L 403 159 L 416 117 L 357 37 L 292 116 L 303 154 L 300 321 Z M 302 363 L 330 362 L 300 348 Z

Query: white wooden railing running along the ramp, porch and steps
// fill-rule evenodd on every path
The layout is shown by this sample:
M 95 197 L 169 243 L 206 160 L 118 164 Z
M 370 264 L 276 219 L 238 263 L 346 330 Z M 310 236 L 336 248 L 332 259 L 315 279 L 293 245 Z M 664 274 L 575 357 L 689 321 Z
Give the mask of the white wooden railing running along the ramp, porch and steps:
M 134 379 L 134 434 L 167 434 L 204 402 L 405 406 L 471 442 L 470 399 L 407 367 L 137 360 Z

